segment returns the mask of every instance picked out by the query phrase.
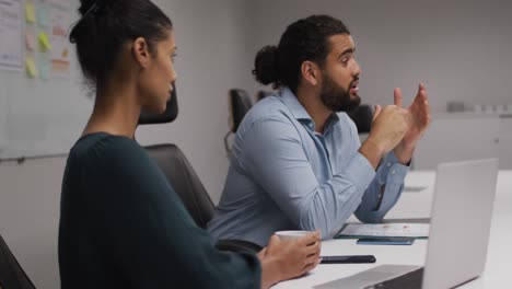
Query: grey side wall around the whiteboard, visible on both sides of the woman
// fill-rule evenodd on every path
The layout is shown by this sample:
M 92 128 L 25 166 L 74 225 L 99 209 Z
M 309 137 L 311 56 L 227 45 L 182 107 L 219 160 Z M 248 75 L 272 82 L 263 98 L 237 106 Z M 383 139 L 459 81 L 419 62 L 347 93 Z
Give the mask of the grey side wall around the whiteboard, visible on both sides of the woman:
M 141 127 L 137 137 L 142 143 L 177 143 L 217 203 L 228 171 L 222 142 L 229 130 L 228 90 L 249 81 L 249 72 L 240 72 L 247 66 L 246 7 L 237 0 L 156 3 L 176 28 L 179 117 Z M 57 232 L 65 162 L 0 164 L 0 233 L 42 289 L 60 287 Z

